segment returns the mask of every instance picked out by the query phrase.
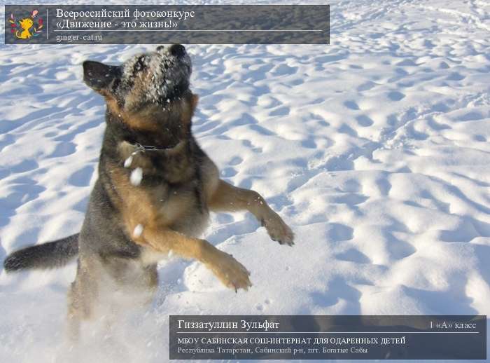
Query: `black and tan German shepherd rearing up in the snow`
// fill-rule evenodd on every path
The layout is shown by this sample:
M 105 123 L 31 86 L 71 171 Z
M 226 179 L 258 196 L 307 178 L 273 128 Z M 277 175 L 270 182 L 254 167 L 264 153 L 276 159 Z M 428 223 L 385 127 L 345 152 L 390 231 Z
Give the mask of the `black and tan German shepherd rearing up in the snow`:
M 210 211 L 248 210 L 272 240 L 293 245 L 293 232 L 264 198 L 219 179 L 218 167 L 194 139 L 198 97 L 190 90 L 191 71 L 179 44 L 117 66 L 83 62 L 83 80 L 106 101 L 99 178 L 83 226 L 80 233 L 20 249 L 3 262 L 7 271 L 55 268 L 78 256 L 68 296 L 73 338 L 80 322 L 101 316 L 99 307 L 111 306 L 115 295 L 151 301 L 157 263 L 169 253 L 197 259 L 226 287 L 247 290 L 248 270 L 200 238 Z

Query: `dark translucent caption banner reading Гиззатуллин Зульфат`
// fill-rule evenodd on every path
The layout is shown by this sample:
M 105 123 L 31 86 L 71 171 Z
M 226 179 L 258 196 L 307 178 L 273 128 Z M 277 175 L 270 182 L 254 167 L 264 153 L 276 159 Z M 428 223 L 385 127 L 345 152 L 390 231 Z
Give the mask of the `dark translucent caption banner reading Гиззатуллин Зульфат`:
M 486 315 L 171 315 L 170 359 L 486 359 Z

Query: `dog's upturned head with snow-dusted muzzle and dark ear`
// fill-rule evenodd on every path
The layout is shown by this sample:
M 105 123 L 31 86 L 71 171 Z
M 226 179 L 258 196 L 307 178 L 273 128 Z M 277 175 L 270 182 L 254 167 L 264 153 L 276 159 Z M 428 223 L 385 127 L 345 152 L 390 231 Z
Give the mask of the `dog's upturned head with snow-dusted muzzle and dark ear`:
M 105 97 L 111 114 L 140 126 L 150 126 L 148 116 L 177 106 L 187 105 L 192 114 L 197 97 L 189 90 L 191 72 L 190 57 L 180 44 L 158 46 L 120 65 L 83 62 L 83 81 Z

